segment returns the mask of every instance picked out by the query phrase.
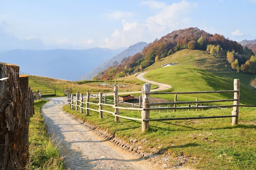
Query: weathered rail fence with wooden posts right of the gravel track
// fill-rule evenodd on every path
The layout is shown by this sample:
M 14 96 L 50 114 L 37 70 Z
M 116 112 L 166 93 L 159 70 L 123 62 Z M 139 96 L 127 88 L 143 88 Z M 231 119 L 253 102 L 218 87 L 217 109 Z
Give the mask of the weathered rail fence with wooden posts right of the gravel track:
M 106 104 L 106 96 L 103 103 L 103 95 L 100 92 L 97 97 L 99 97 L 98 103 L 90 102 L 90 92 L 87 91 L 86 95 L 86 102 L 83 102 L 83 93 L 79 95 L 79 92 L 76 93 L 76 99 L 74 99 L 74 95 L 71 93 L 67 93 L 67 102 L 69 106 L 73 109 L 75 106 L 76 110 L 79 110 L 83 113 L 83 109 L 86 110 L 86 115 L 89 115 L 89 110 L 99 112 L 99 117 L 103 118 L 103 112 L 110 113 L 115 116 L 115 121 L 119 121 L 119 117 L 124 119 L 130 119 L 130 120 L 136 120 L 141 121 L 142 126 L 142 132 L 145 132 L 146 129 L 149 127 L 150 121 L 168 121 L 168 120 L 185 120 L 185 119 L 210 119 L 210 118 L 224 118 L 224 117 L 232 117 L 232 125 L 238 124 L 238 113 L 239 113 L 239 97 L 240 97 L 240 90 L 239 90 L 239 79 L 234 79 L 234 90 L 228 90 L 228 91 L 194 91 L 194 92 L 150 92 L 151 84 L 146 83 L 143 85 L 141 90 L 141 96 L 142 96 L 142 108 L 139 105 L 138 108 L 134 107 L 120 107 L 119 106 L 119 100 L 118 100 L 118 88 L 117 86 L 114 87 L 114 104 Z M 150 103 L 150 95 L 168 95 L 168 94 L 174 94 L 175 99 L 177 97 L 177 94 L 200 94 L 200 93 L 234 93 L 233 99 L 221 99 L 221 100 L 207 100 L 207 101 L 189 101 L 189 102 L 168 102 L 168 103 Z M 95 96 L 94 96 L 95 97 Z M 204 104 L 204 103 L 217 103 L 217 102 L 233 102 L 233 104 L 230 105 L 218 105 L 218 106 L 199 106 L 198 104 Z M 181 106 L 177 107 L 177 104 L 188 104 L 188 106 Z M 190 104 L 196 104 L 194 107 L 191 107 Z M 85 106 L 84 106 L 85 105 Z M 90 108 L 90 105 L 97 105 L 99 106 L 99 109 L 93 109 Z M 153 107 L 153 105 L 173 105 L 173 107 Z M 108 110 L 103 110 L 102 106 L 110 106 L 114 108 L 115 110 L 113 112 Z M 226 116 L 209 116 L 209 117 L 177 117 L 177 118 L 166 118 L 166 119 L 150 119 L 150 110 L 170 110 L 173 109 L 174 111 L 177 109 L 206 109 L 206 108 L 230 108 L 233 107 L 233 111 L 231 112 L 231 115 Z M 139 110 L 141 111 L 141 119 L 134 118 L 134 117 L 126 117 L 119 115 L 119 109 L 124 110 Z

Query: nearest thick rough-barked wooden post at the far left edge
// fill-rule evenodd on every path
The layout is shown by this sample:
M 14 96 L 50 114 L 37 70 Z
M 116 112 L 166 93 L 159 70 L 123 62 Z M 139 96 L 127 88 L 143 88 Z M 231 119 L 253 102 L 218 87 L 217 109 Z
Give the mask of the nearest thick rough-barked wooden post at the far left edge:
M 19 66 L 0 63 L 0 169 L 22 170 L 23 117 Z

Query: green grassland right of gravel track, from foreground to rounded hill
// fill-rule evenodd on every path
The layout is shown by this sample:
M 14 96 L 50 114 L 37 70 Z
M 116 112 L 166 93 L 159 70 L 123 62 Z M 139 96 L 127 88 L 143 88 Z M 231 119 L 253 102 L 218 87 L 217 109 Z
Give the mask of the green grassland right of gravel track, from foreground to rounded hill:
M 166 61 L 163 63 L 166 63 Z M 158 66 L 149 67 L 148 73 L 144 77 L 155 82 L 171 85 L 172 88 L 166 91 L 233 90 L 234 78 L 238 78 L 240 79 L 240 104 L 256 105 L 256 91 L 249 86 L 250 80 L 255 78 L 255 75 L 234 72 L 209 72 L 183 64 L 160 68 L 161 62 L 159 61 Z M 225 68 L 224 65 L 220 67 Z M 31 81 L 29 83 L 32 85 Z M 94 86 L 94 90 L 92 90 L 94 92 L 101 91 L 101 88 L 103 88 L 95 85 L 98 85 L 99 82 L 72 83 L 74 84 L 69 86 L 75 89 L 74 94 L 76 91 L 85 94 L 88 87 L 92 86 Z M 127 88 L 125 90 L 121 89 L 121 91 L 132 91 L 134 89 L 137 91 L 141 89 L 143 84 L 143 82 L 136 80 L 135 75 L 119 79 L 114 83 L 127 85 Z M 105 92 L 112 92 L 113 87 L 106 87 L 106 89 L 108 90 L 105 90 Z M 167 101 L 173 101 L 174 99 L 173 95 L 152 96 Z M 197 97 L 199 101 L 231 99 L 233 93 L 179 94 L 177 100 L 195 101 Z M 229 104 L 232 103 L 229 102 Z M 103 106 L 103 109 L 113 111 L 113 108 L 108 106 Z M 99 129 L 106 130 L 115 137 L 127 141 L 127 143 L 130 143 L 132 139 L 138 139 L 139 142 L 137 144 L 133 143 L 133 147 L 140 146 L 139 149 L 144 150 L 145 156 L 152 159 L 152 161 L 167 164 L 167 168 L 183 165 L 198 170 L 256 169 L 256 109 L 254 107 L 239 108 L 239 120 L 236 126 L 231 126 L 232 118 L 150 121 L 150 127 L 146 132 L 141 132 L 141 122 L 122 118 L 120 118 L 120 122 L 115 122 L 115 117 L 109 113 L 103 113 L 103 119 L 99 119 L 99 113 L 94 111 L 90 111 L 90 116 L 86 116 L 84 113 L 81 114 L 76 110 L 71 110 L 67 105 L 64 106 L 63 110 L 88 124 L 97 125 Z M 150 111 L 150 119 L 231 115 L 231 111 L 232 108 L 199 109 L 198 111 L 191 109 L 176 112 L 173 112 L 173 110 L 158 110 Z M 141 113 L 138 111 L 120 109 L 119 113 L 128 117 L 141 117 Z M 159 157 L 155 157 L 155 155 Z

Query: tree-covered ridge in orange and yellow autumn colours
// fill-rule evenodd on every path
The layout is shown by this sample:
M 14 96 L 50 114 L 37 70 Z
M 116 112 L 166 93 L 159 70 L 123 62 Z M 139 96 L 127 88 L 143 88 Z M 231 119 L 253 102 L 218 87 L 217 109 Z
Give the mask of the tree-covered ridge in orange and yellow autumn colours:
M 132 75 L 182 49 L 206 51 L 211 56 L 227 60 L 234 71 L 256 73 L 256 58 L 252 49 L 217 33 L 213 35 L 198 28 L 188 28 L 155 39 L 140 53 L 125 57 L 120 64 L 109 66 L 93 79 L 110 80 Z

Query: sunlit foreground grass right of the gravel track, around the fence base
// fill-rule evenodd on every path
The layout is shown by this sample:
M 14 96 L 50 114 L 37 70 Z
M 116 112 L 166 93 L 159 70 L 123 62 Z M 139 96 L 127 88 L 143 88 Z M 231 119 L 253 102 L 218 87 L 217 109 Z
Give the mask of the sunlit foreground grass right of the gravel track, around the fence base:
M 103 110 L 111 109 L 107 106 Z M 141 122 L 90 111 L 90 116 L 64 106 L 63 110 L 88 124 L 97 124 L 101 130 L 138 147 L 152 161 L 167 164 L 167 168 L 190 166 L 200 170 L 255 170 L 256 169 L 256 115 L 254 108 L 240 108 L 237 126 L 231 118 L 193 119 L 178 121 L 150 121 L 146 132 L 141 132 Z M 150 118 L 195 117 L 231 115 L 226 110 L 199 111 L 173 110 L 150 112 Z M 120 115 L 139 118 L 138 111 L 119 110 Z M 137 139 L 138 143 L 132 143 Z

